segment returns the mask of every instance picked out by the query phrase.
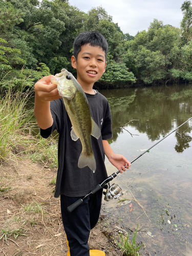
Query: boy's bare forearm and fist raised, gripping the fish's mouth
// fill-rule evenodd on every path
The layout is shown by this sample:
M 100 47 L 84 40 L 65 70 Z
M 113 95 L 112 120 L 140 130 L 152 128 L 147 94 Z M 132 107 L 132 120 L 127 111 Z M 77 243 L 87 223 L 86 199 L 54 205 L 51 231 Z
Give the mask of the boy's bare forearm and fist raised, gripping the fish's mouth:
M 34 115 L 38 126 L 41 129 L 48 129 L 53 124 L 53 118 L 50 111 L 50 101 L 59 99 L 61 96 L 57 90 L 57 84 L 51 83 L 53 76 L 45 76 L 35 83 L 35 105 Z

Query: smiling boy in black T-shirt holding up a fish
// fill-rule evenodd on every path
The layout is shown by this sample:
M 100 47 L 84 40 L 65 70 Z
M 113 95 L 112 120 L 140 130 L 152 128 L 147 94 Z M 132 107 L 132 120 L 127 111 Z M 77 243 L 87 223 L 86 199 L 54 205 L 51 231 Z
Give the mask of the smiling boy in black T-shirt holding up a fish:
M 94 82 L 105 72 L 107 52 L 108 43 L 100 33 L 84 32 L 75 39 L 74 55 L 71 58 L 72 67 L 77 71 L 77 81 L 87 95 L 92 118 L 101 130 L 98 140 L 91 136 L 97 164 L 95 173 L 88 166 L 77 166 L 82 150 L 81 142 L 71 139 L 71 121 L 57 86 L 50 82 L 52 76 L 44 77 L 35 84 L 34 114 L 41 136 L 47 138 L 55 129 L 59 133 L 55 197 L 60 195 L 62 222 L 70 248 L 67 256 L 105 255 L 101 250 L 89 250 L 88 246 L 90 230 L 99 219 L 102 189 L 83 200 L 71 214 L 67 207 L 90 193 L 93 187 L 108 177 L 104 155 L 117 169 L 121 169 L 121 173 L 131 166 L 122 155 L 112 151 L 107 141 L 112 138 L 109 103 L 104 96 L 93 90 Z

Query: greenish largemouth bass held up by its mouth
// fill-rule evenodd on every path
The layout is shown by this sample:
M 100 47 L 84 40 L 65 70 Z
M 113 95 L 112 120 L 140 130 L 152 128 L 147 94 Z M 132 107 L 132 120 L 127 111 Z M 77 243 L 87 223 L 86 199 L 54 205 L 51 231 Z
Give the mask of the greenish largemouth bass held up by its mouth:
M 71 138 L 80 139 L 82 152 L 78 159 L 78 167 L 88 166 L 93 173 L 96 170 L 96 161 L 91 144 L 91 135 L 96 139 L 101 136 L 98 125 L 91 117 L 89 102 L 82 87 L 75 77 L 66 69 L 51 78 L 57 84 L 59 95 L 62 97 L 66 111 L 72 123 Z

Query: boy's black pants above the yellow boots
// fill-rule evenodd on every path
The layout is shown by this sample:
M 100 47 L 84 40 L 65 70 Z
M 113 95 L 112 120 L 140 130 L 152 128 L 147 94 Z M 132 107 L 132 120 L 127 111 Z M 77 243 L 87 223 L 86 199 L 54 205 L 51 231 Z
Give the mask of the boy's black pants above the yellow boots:
M 70 255 L 89 256 L 88 239 L 90 230 L 95 227 L 99 219 L 102 189 L 84 199 L 82 204 L 69 213 L 67 207 L 79 198 L 83 197 L 60 195 L 62 223 L 67 234 Z

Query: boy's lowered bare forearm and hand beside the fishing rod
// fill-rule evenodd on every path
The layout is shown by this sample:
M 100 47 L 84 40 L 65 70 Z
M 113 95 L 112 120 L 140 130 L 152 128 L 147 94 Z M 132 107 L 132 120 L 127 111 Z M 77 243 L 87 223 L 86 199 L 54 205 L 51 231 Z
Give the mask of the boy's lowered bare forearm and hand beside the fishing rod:
M 125 157 L 119 154 L 115 154 L 107 140 L 103 140 L 103 148 L 104 148 L 104 154 L 109 159 L 109 161 L 119 170 L 120 173 L 131 166 L 130 161 L 128 161 Z

